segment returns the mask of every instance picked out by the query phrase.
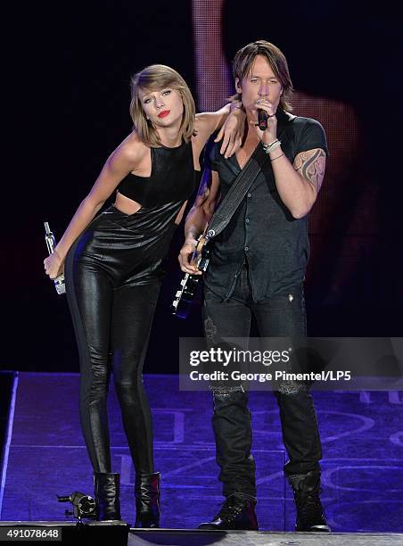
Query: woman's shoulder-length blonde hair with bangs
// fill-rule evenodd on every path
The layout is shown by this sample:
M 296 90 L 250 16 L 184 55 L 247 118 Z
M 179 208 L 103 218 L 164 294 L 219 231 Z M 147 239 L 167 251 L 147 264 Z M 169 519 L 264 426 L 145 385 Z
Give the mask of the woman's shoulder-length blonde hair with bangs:
M 153 128 L 152 124 L 145 117 L 139 91 L 140 89 L 142 91 L 158 91 L 165 87 L 175 89 L 184 103 L 184 113 L 179 129 L 182 138 L 184 138 L 185 142 L 189 142 L 193 135 L 196 109 L 192 93 L 190 92 L 185 79 L 178 74 L 177 70 L 171 69 L 169 66 L 165 66 L 164 64 L 152 64 L 137 72 L 130 81 L 132 96 L 130 116 L 139 138 L 145 145 L 149 145 L 152 148 L 161 145 L 160 138 L 156 129 Z

